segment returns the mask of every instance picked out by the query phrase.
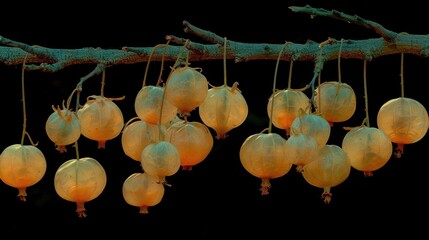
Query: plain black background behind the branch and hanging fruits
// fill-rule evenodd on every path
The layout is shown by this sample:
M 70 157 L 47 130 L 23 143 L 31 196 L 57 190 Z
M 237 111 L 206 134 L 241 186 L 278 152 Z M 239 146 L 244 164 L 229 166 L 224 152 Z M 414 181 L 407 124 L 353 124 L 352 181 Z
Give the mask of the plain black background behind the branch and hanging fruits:
M 375 1 L 267 1 L 257 4 L 229 3 L 154 3 L 146 6 L 123 2 L 89 7 L 87 5 L 11 6 L 15 15 L 2 22 L 0 35 L 50 48 L 101 47 L 120 49 L 123 46 L 151 47 L 165 43 L 165 35 L 173 34 L 201 39 L 182 31 L 182 21 L 212 31 L 221 37 L 241 42 L 285 41 L 305 43 L 335 39 L 366 39 L 379 36 L 370 29 L 331 18 L 293 13 L 288 6 L 336 9 L 351 15 L 373 20 L 387 29 L 410 34 L 427 34 L 425 9 L 418 1 L 407 5 L 374 4 Z M 414 4 L 416 2 L 416 4 Z M 167 66 L 171 66 L 167 62 Z M 405 55 L 405 96 L 428 106 L 427 66 L 425 58 Z M 223 62 L 192 62 L 201 67 L 212 85 L 223 83 Z M 116 103 L 125 121 L 135 117 L 134 98 L 141 87 L 146 64 L 114 66 L 106 70 L 105 96 L 126 96 Z M 159 63 L 151 63 L 148 83 L 154 84 L 159 74 Z M 124 180 L 141 172 L 137 161 L 127 157 L 121 147 L 120 136 L 106 143 L 106 149 L 97 149 L 97 143 L 81 137 L 80 156 L 97 159 L 107 173 L 107 185 L 96 199 L 85 203 L 88 216 L 79 218 L 76 205 L 60 198 L 53 185 L 56 169 L 66 160 L 75 158 L 75 151 L 60 154 L 44 131 L 52 105 L 59 105 L 69 96 L 80 77 L 94 66 L 67 67 L 56 73 L 26 72 L 27 131 L 47 160 L 44 178 L 27 189 L 26 202 L 16 197 L 17 190 L 0 184 L 0 230 L 15 236 L 120 236 L 144 237 L 278 237 L 320 238 L 358 236 L 427 236 L 424 225 L 429 213 L 427 196 L 428 157 L 427 136 L 406 145 L 401 158 L 391 158 L 373 177 L 352 170 L 349 178 L 332 188 L 332 201 L 325 204 L 323 190 L 310 186 L 293 169 L 285 176 L 271 180 L 270 194 L 261 196 L 260 179 L 250 175 L 239 160 L 239 148 L 250 135 L 268 127 L 266 104 L 271 95 L 275 61 L 228 61 L 229 84 L 240 83 L 239 88 L 249 105 L 249 116 L 223 140 L 214 141 L 210 155 L 192 171 L 180 170 L 168 177 L 172 184 L 166 187 L 160 204 L 150 207 L 148 214 L 128 205 L 122 196 Z M 167 68 L 168 69 L 168 68 Z M 322 80 L 338 80 L 337 61 L 326 63 Z M 287 86 L 289 63 L 281 62 L 277 88 Z M 300 88 L 312 78 L 311 62 L 295 62 L 292 87 Z M 167 74 L 168 72 L 165 72 Z M 346 133 L 343 126 L 360 125 L 365 117 L 363 98 L 363 61 L 343 59 L 342 81 L 351 85 L 357 95 L 358 106 L 352 119 L 334 124 L 330 144 L 341 145 Z M 22 134 L 21 66 L 0 65 L 2 82 L 3 127 L 2 149 L 20 142 Z M 380 106 L 400 96 L 400 55 L 384 56 L 368 62 L 368 100 L 370 124 L 376 126 Z M 101 76 L 85 82 L 82 101 L 100 92 Z M 307 92 L 309 93 L 309 92 Z M 83 103 L 83 102 L 82 102 Z M 191 120 L 199 121 L 198 113 Z M 274 129 L 284 134 L 283 130 Z

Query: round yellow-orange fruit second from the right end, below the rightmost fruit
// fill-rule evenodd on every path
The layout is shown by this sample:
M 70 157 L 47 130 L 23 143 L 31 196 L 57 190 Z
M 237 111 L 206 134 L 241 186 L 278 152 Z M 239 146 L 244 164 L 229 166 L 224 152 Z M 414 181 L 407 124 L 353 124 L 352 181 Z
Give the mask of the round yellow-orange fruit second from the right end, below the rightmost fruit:
M 353 168 L 372 176 L 392 156 L 392 142 L 382 130 L 360 126 L 352 128 L 343 138 L 342 149 Z

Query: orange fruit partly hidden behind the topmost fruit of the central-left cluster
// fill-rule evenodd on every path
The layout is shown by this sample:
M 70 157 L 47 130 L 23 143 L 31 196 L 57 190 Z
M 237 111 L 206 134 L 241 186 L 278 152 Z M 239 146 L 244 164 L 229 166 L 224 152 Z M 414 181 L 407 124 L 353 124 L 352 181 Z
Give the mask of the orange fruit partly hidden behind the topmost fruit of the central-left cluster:
M 137 116 L 150 124 L 158 124 L 162 105 L 161 124 L 173 120 L 177 115 L 177 108 L 168 101 L 163 101 L 164 87 L 144 86 L 138 92 L 134 101 Z

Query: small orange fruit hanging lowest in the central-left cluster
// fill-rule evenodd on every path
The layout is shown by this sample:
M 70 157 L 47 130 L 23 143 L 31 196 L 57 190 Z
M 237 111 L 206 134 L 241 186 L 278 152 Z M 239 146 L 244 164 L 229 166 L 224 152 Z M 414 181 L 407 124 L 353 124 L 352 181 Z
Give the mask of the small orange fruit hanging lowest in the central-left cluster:
M 133 173 L 122 185 L 125 201 L 138 207 L 142 214 L 149 213 L 149 207 L 161 202 L 164 191 L 164 185 L 158 182 L 158 178 L 147 173 Z

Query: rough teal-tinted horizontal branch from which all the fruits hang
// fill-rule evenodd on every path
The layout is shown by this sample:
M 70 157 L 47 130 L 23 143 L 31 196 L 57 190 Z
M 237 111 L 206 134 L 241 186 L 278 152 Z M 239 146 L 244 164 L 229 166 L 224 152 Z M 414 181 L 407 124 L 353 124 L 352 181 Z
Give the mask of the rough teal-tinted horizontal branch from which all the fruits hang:
M 318 74 L 326 61 L 338 58 L 341 46 L 341 58 L 372 60 L 385 55 L 407 53 L 421 57 L 429 56 L 429 36 L 406 33 L 396 33 L 385 29 L 382 25 L 363 19 L 359 16 L 351 16 L 336 10 L 328 11 L 322 8 L 310 6 L 289 7 L 293 12 L 309 14 L 312 17 L 330 17 L 347 21 L 372 29 L 379 38 L 353 40 L 336 40 L 328 38 L 322 43 L 307 41 L 304 44 L 287 42 L 281 60 L 312 61 L 315 63 L 314 73 Z M 190 61 L 219 60 L 224 58 L 224 38 L 215 33 L 198 28 L 184 21 L 184 31 L 195 35 L 207 43 L 198 43 L 189 39 L 167 35 L 166 40 L 177 45 L 168 46 L 165 53 L 165 61 L 175 61 L 185 42 L 188 42 Z M 0 36 L 0 62 L 6 65 L 19 65 L 23 63 L 25 56 L 26 70 L 39 70 L 56 72 L 70 65 L 94 64 L 110 67 L 120 64 L 135 64 L 147 62 L 153 47 L 123 47 L 122 49 L 53 49 L 41 46 L 30 46 Z M 245 43 L 228 40 L 226 58 L 235 62 L 253 60 L 276 60 L 284 43 Z M 151 57 L 151 61 L 160 61 L 164 50 L 157 49 Z

